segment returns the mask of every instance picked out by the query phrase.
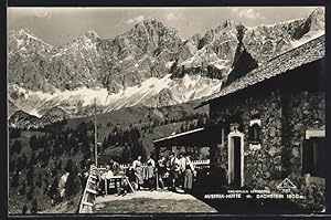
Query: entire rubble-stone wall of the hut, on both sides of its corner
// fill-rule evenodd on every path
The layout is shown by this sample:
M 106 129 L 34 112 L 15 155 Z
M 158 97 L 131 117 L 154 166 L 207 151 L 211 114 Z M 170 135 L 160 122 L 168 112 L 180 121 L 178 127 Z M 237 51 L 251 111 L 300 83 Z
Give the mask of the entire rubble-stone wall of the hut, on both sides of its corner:
M 248 126 L 252 115 L 259 113 L 260 148 L 252 149 L 248 144 Z M 296 200 L 302 207 L 322 208 L 324 180 L 307 178 L 302 174 L 302 143 L 307 129 L 324 129 L 325 98 L 317 92 L 261 92 L 253 97 L 233 101 L 215 101 L 210 106 L 211 122 L 217 124 L 228 115 L 239 113 L 244 133 L 245 186 L 255 189 L 278 191 L 278 184 L 288 177 L 298 187 L 297 192 L 306 196 Z M 227 174 L 227 133 L 215 154 L 215 164 Z

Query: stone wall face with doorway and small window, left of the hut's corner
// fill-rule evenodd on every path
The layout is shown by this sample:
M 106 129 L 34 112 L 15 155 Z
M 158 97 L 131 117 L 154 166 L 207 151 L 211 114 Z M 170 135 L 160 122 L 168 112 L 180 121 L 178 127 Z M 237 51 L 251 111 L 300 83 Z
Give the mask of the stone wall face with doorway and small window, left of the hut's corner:
M 225 106 L 224 106 L 225 105 Z M 233 103 L 211 103 L 211 122 L 217 123 L 226 115 L 239 113 L 244 133 L 244 178 L 249 187 L 268 187 L 269 180 L 280 178 L 281 172 L 281 95 L 280 92 L 260 93 L 259 97 L 242 97 Z M 260 149 L 249 148 L 248 127 L 253 115 L 258 113 Z M 228 130 L 227 130 L 228 132 Z M 227 172 L 227 135 L 220 149 L 217 165 Z

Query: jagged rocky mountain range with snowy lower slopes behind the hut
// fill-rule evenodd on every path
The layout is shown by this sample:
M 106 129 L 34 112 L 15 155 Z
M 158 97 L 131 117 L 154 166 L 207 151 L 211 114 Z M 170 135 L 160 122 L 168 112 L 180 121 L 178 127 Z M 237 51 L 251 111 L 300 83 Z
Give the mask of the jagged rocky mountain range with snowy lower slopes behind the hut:
M 94 98 L 100 113 L 204 98 L 321 34 L 322 9 L 273 25 L 252 28 L 226 20 L 186 40 L 154 19 L 114 39 L 90 30 L 61 46 L 26 29 L 10 31 L 9 116 L 26 113 L 50 122 L 86 116 L 94 111 Z

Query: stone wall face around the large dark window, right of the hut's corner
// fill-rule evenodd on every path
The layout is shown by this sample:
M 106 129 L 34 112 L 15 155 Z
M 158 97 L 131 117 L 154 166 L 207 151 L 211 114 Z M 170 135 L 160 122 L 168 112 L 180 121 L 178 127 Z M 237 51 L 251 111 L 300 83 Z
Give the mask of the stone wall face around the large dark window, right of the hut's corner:
M 302 143 L 308 129 L 325 129 L 324 93 L 301 92 L 292 95 L 290 114 L 290 164 L 289 178 L 296 182 L 297 192 L 305 195 L 305 200 L 297 200 L 300 206 L 323 209 L 325 201 L 325 179 L 302 174 Z

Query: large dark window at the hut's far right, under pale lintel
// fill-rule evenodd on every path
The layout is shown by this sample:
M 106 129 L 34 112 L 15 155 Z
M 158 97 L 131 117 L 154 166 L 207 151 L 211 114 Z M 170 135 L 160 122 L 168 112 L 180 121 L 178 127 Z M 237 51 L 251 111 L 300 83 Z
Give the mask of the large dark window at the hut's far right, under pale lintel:
M 302 172 L 325 177 L 325 136 L 309 136 L 302 146 Z

